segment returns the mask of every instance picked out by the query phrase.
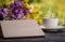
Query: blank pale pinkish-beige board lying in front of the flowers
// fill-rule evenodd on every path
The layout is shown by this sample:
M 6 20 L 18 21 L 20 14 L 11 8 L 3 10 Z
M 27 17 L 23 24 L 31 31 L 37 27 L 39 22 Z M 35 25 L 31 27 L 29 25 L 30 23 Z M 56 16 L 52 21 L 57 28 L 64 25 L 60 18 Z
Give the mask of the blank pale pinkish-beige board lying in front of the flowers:
M 34 19 L 3 20 L 1 28 L 4 38 L 44 36 Z

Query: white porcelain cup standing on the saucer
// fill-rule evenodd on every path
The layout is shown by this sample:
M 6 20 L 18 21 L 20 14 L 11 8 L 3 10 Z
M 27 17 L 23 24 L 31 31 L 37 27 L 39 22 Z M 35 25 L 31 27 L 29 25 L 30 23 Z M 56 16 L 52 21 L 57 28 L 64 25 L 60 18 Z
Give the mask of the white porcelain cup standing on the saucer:
M 43 26 L 46 28 L 55 28 L 58 25 L 58 18 L 43 18 Z

